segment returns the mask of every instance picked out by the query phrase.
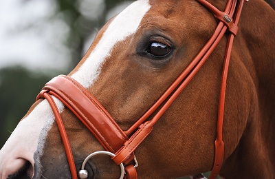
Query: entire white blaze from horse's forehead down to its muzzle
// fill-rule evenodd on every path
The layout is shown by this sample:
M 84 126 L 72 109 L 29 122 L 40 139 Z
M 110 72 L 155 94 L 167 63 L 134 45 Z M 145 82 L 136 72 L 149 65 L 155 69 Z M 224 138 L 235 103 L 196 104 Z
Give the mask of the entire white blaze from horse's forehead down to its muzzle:
M 150 9 L 148 0 L 135 1 L 128 8 L 118 14 L 104 32 L 96 48 L 89 55 L 85 63 L 72 75 L 84 87 L 90 87 L 100 74 L 100 67 L 111 54 L 113 46 L 134 34 L 146 12 Z M 54 98 L 60 112 L 63 104 Z M 43 147 L 47 132 L 54 122 L 54 114 L 47 101 L 42 101 L 34 110 L 21 120 L 12 135 L 0 151 L 0 178 L 6 178 L 21 166 L 16 166 L 17 158 L 25 158 L 34 165 L 34 153 Z M 14 162 L 17 160 L 17 162 Z

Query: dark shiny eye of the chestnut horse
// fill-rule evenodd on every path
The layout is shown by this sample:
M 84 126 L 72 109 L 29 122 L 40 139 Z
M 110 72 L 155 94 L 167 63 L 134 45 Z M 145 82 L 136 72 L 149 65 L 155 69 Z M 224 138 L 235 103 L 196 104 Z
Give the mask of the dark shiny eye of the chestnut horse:
M 146 53 L 151 54 L 155 57 L 163 57 L 169 54 L 171 48 L 168 45 L 160 42 L 152 42 L 145 50 Z

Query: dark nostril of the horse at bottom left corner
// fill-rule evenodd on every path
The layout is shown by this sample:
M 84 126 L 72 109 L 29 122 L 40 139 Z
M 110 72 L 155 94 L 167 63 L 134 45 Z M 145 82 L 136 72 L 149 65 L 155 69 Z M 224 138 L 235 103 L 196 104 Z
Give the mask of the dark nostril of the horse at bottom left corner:
M 15 160 L 14 165 L 17 166 L 17 168 L 19 166 L 21 166 L 21 167 L 19 167 L 19 169 L 17 169 L 17 171 L 12 172 L 12 174 L 10 174 L 8 176 L 8 179 L 32 178 L 32 176 L 34 174 L 34 167 L 28 160 L 25 160 L 23 158 L 18 158 L 17 160 Z

